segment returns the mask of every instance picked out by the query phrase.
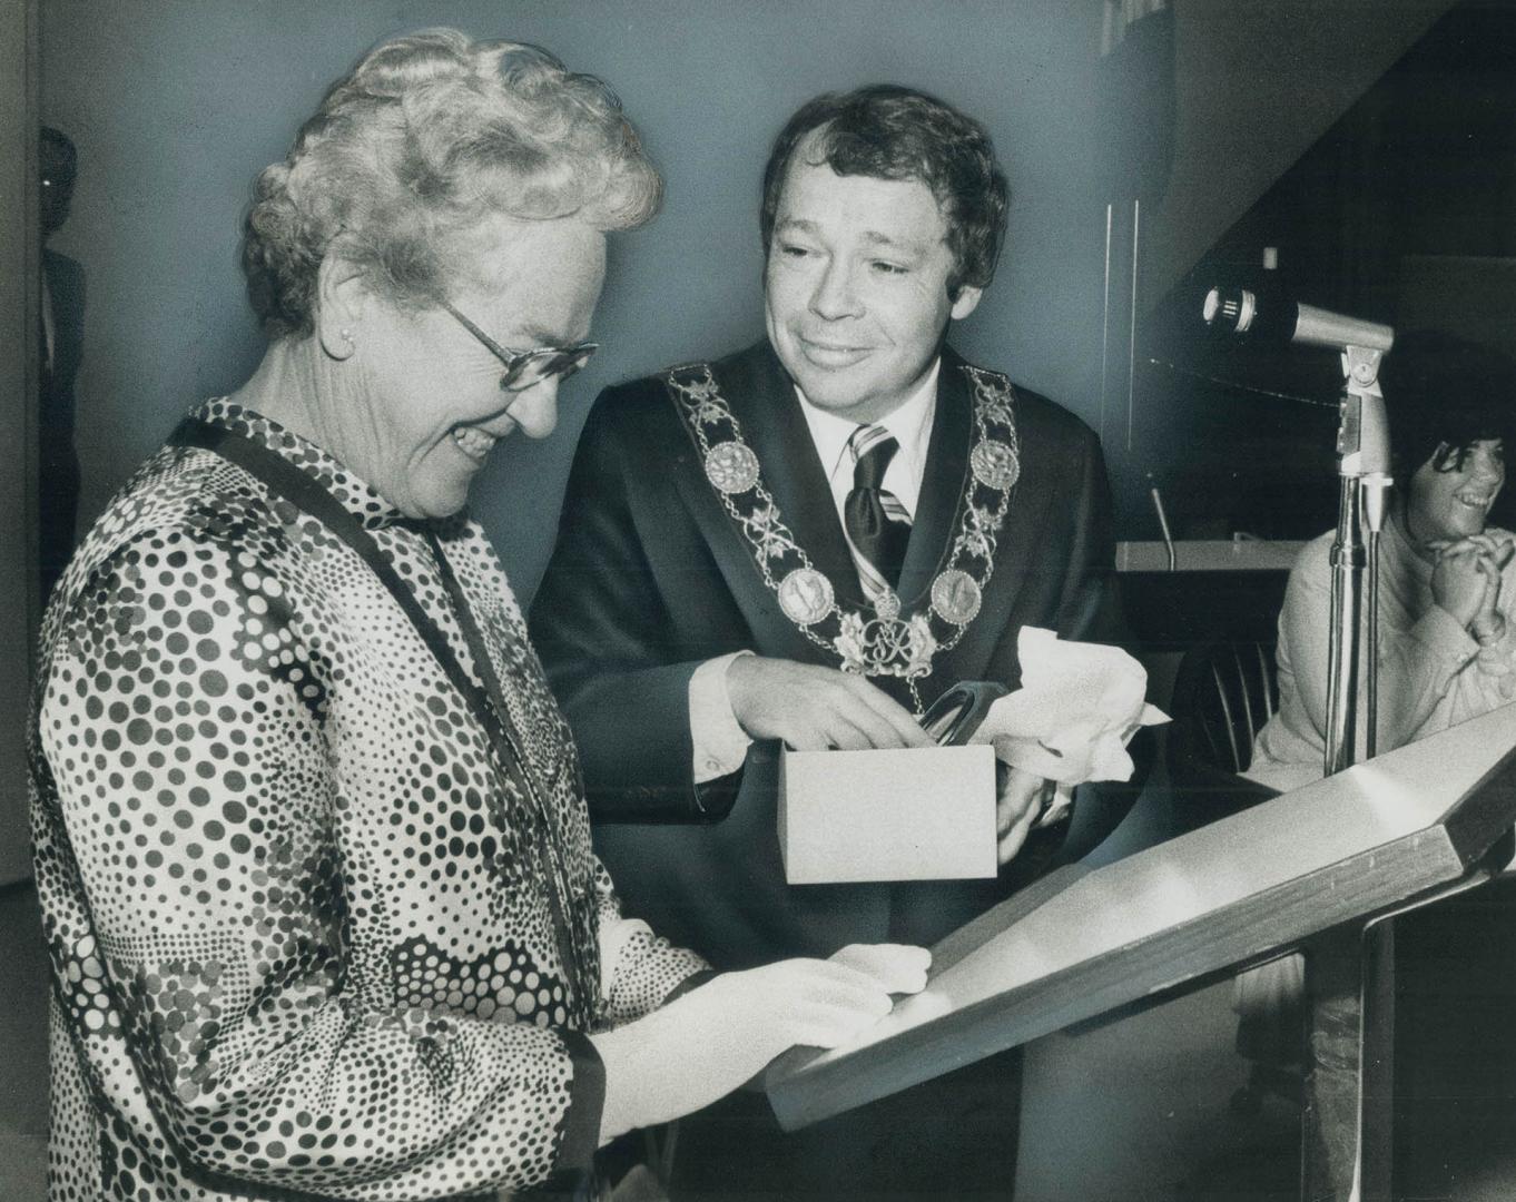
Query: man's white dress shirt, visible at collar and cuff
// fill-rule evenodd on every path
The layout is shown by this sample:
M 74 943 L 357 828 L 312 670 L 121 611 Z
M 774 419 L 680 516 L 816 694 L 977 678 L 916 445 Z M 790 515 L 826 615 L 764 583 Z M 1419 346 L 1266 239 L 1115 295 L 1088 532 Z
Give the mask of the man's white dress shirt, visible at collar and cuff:
M 882 488 L 893 493 L 914 518 L 916 505 L 922 496 L 922 477 L 926 473 L 926 452 L 931 446 L 932 420 L 937 417 L 937 376 L 941 359 L 932 364 L 922 387 L 910 400 L 891 414 L 873 421 L 882 426 L 899 443 L 899 450 L 890 459 L 884 473 Z M 805 399 L 799 388 L 800 412 L 811 432 L 811 443 L 826 471 L 832 488 L 832 505 L 837 521 L 843 523 L 843 503 L 854 487 L 854 461 L 847 453 L 847 440 L 858 423 L 820 409 Z M 855 553 L 857 558 L 857 553 Z M 750 650 L 732 652 L 716 659 L 706 659 L 690 678 L 690 738 L 694 743 L 694 782 L 703 785 L 743 765 L 752 740 L 732 714 L 732 700 L 726 693 L 726 668 L 738 655 L 753 655 Z

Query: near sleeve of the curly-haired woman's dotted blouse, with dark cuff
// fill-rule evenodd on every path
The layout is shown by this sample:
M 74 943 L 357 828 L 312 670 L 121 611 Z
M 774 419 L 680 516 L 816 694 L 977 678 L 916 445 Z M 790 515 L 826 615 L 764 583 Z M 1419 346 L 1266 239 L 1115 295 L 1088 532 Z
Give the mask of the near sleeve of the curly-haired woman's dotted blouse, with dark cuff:
M 585 1167 L 603 1102 L 588 1038 L 406 1008 L 385 949 L 355 938 L 391 899 L 365 885 L 373 832 L 330 768 L 341 668 L 255 567 L 143 535 L 50 624 L 38 884 L 91 1094 L 143 1125 L 136 1146 L 167 1135 L 179 1172 L 302 1196 Z

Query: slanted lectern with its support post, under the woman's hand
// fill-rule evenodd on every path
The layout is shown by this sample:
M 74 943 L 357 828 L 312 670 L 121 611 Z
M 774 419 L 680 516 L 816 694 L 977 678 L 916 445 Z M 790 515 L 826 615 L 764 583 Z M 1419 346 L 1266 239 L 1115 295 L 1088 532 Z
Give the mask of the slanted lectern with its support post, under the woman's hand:
M 1383 1061 L 1363 1002 L 1383 991 L 1387 966 L 1364 955 L 1364 932 L 1498 872 L 1513 822 L 1516 705 L 1114 864 L 1038 882 L 943 940 L 926 990 L 866 1035 L 775 1061 L 769 1099 L 794 1129 L 1304 947 L 1331 1011 L 1313 1032 L 1302 1194 L 1381 1196 L 1389 1082 L 1375 1078 Z

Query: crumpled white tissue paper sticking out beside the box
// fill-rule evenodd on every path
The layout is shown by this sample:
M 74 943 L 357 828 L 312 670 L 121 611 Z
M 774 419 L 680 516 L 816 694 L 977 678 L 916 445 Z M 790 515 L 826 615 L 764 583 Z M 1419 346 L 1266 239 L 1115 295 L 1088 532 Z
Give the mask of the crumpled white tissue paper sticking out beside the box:
M 1066 643 L 1023 626 L 1016 643 L 1022 687 L 1001 697 L 970 743 L 990 743 L 1004 762 L 1058 782 L 1038 825 L 1061 817 L 1085 781 L 1129 781 L 1126 744 L 1169 715 L 1143 697 L 1148 671 L 1120 647 Z

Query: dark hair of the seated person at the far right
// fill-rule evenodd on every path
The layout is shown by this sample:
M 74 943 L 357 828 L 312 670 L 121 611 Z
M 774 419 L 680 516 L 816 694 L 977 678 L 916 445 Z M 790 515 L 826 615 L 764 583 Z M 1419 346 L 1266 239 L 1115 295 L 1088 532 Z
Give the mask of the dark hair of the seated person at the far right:
M 1439 471 L 1460 468 L 1469 449 L 1484 440 L 1501 440 L 1511 449 L 1516 362 L 1498 350 L 1437 330 L 1413 330 L 1396 338 L 1384 356 L 1380 383 L 1398 485 L 1408 484 L 1428 461 Z

